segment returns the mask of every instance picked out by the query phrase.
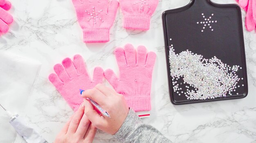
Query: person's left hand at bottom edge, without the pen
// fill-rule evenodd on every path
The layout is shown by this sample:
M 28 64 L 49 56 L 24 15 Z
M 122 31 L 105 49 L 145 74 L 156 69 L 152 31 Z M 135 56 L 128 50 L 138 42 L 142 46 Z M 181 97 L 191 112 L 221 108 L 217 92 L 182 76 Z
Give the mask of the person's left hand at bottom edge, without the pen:
M 81 104 L 57 135 L 54 143 L 92 143 L 96 131 L 97 128 L 84 114 L 84 105 Z

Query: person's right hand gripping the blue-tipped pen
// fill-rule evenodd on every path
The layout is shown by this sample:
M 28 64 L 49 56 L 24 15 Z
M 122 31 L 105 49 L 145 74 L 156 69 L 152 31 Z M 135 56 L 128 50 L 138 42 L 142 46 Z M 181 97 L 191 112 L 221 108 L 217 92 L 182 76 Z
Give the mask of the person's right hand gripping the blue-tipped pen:
M 96 128 L 115 134 L 124 123 L 129 108 L 126 104 L 124 96 L 118 94 L 113 89 L 110 89 L 102 84 L 96 85 L 93 89 L 86 90 L 82 93 L 83 98 L 91 98 L 97 102 L 104 110 L 108 111 L 111 118 L 99 115 L 94 110 L 92 104 L 85 100 L 85 115 Z

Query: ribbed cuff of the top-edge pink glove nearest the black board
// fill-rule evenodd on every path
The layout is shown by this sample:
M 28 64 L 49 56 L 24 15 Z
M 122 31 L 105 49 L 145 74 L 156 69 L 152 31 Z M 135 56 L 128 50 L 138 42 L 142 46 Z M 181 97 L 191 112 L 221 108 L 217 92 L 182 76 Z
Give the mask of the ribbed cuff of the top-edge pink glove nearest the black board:
M 148 30 L 150 26 L 150 15 L 142 13 L 134 13 L 132 15 L 124 15 L 124 28 Z

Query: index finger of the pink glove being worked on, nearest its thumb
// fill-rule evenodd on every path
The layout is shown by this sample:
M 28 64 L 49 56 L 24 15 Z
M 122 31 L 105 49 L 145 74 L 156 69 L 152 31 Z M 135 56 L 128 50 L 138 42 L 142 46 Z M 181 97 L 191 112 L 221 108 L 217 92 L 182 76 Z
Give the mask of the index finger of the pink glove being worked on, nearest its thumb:
M 89 76 L 82 56 L 80 56 L 79 54 L 75 55 L 73 58 L 73 62 L 79 75 Z

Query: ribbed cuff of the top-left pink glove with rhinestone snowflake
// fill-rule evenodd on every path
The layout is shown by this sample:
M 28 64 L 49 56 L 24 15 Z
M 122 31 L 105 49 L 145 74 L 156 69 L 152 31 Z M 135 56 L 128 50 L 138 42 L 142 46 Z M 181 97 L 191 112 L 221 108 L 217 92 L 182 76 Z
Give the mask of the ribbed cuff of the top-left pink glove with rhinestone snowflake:
M 85 43 L 92 42 L 108 42 L 109 38 L 108 28 L 93 28 L 93 29 L 84 29 L 83 30 L 83 41 Z

